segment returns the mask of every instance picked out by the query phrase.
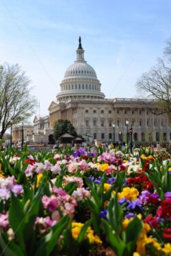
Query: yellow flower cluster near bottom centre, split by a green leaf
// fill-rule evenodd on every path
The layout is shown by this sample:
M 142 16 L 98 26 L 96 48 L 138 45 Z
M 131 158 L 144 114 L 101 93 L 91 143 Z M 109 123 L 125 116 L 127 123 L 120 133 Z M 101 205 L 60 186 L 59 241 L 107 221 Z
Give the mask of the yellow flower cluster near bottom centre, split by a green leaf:
M 72 235 L 75 240 L 78 238 L 81 228 L 83 227 L 83 223 L 81 222 L 72 222 Z M 88 239 L 90 244 L 102 244 L 102 241 L 98 235 L 94 235 L 94 231 L 89 226 L 86 234 L 84 235 L 85 239 Z

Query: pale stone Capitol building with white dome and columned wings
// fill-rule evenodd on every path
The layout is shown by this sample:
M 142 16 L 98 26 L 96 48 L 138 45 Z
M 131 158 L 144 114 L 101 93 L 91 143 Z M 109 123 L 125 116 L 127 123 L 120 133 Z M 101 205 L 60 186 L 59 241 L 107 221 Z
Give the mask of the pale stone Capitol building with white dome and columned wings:
M 36 116 L 33 126 L 24 126 L 25 140 L 35 143 L 53 141 L 53 125 L 58 119 L 71 121 L 78 135 L 91 141 L 127 141 L 132 126 L 133 141 L 170 141 L 167 115 L 154 115 L 159 110 L 156 100 L 135 98 L 106 99 L 96 71 L 84 59 L 79 37 L 77 58 L 66 69 L 60 93 L 49 106 L 49 115 Z M 13 129 L 13 140 L 21 141 L 21 127 Z

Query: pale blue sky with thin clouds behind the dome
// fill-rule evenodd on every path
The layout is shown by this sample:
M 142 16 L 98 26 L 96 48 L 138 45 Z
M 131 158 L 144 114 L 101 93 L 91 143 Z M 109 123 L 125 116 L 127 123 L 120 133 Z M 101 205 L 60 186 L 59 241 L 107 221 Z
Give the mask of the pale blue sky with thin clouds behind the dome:
M 48 115 L 81 36 L 105 97 L 137 97 L 171 37 L 170 13 L 171 0 L 0 0 L 0 64 L 26 71 L 36 115 Z

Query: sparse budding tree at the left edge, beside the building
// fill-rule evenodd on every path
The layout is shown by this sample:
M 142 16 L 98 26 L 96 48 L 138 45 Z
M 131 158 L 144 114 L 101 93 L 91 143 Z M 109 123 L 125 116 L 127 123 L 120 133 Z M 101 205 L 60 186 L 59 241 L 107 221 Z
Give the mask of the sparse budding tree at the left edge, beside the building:
M 0 65 L 0 139 L 11 120 L 14 125 L 20 124 L 33 115 L 37 101 L 30 95 L 30 82 L 17 64 Z

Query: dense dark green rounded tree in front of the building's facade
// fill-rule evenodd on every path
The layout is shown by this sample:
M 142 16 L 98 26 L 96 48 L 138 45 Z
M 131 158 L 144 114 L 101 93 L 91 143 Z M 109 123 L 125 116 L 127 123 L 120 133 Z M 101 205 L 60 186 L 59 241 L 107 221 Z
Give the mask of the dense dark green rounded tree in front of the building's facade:
M 70 121 L 67 119 L 59 119 L 55 121 L 53 126 L 53 135 L 55 139 L 58 139 L 60 136 L 64 135 L 64 133 L 77 137 L 75 127 Z

